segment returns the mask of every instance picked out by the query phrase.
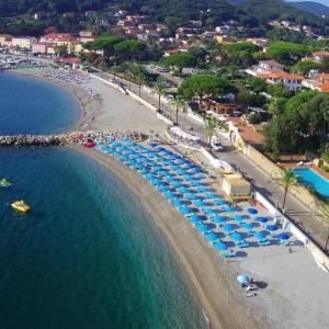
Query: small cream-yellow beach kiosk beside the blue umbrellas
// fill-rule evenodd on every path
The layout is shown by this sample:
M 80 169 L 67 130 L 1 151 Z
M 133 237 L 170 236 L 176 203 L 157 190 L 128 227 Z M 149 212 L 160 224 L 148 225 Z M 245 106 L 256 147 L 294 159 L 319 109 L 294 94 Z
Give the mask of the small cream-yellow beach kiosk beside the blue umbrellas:
M 238 172 L 225 174 L 222 189 L 229 198 L 250 198 L 251 184 Z

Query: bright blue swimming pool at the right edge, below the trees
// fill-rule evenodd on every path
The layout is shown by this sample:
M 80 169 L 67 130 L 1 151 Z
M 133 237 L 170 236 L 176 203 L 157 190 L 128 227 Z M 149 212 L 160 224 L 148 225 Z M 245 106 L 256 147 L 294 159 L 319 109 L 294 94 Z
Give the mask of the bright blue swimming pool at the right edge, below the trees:
M 308 168 L 296 168 L 293 171 L 298 175 L 300 183 L 314 188 L 322 196 L 329 197 L 329 180 Z

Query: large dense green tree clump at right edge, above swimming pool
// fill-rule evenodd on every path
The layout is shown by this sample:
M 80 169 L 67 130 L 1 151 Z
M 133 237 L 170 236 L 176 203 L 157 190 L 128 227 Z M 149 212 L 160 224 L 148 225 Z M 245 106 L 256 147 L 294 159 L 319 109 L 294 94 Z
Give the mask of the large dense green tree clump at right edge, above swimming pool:
M 299 92 L 290 100 L 270 104 L 274 114 L 264 129 L 264 146 L 274 158 L 282 154 L 319 152 L 327 141 L 329 94 Z

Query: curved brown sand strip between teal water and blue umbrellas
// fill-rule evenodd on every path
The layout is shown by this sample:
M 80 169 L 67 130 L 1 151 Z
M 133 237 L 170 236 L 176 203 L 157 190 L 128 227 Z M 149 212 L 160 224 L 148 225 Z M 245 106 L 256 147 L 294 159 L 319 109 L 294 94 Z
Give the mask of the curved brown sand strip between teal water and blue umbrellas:
M 220 260 L 211 246 L 158 191 L 155 193 L 152 186 L 131 168 L 124 167 L 99 150 L 84 149 L 79 145 L 67 147 L 91 157 L 105 167 L 138 198 L 150 220 L 157 225 L 168 242 L 184 281 L 196 294 L 204 311 L 204 320 L 209 319 L 209 328 L 264 328 L 265 316 L 256 314 L 254 309 L 251 311 L 251 305 L 235 295 L 238 285 L 230 280 L 231 275 L 235 275 L 235 269 Z M 270 327 L 266 324 L 266 328 Z

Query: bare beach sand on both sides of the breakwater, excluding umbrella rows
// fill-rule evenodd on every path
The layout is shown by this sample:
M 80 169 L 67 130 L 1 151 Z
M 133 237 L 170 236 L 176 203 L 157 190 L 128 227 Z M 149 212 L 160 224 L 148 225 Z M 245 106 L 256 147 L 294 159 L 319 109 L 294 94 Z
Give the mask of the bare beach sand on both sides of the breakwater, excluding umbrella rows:
M 43 78 L 43 77 L 41 77 Z M 150 131 L 167 126 L 155 114 L 118 90 L 97 79 L 69 86 L 46 78 L 80 101 L 83 116 L 75 129 Z M 88 90 L 92 89 L 94 98 Z M 229 263 L 167 200 L 133 169 L 95 149 L 69 146 L 93 157 L 117 175 L 141 202 L 168 241 L 183 275 L 211 320 L 212 328 L 328 328 L 329 280 L 304 246 L 295 241 L 293 253 L 283 246 L 250 247 Z M 261 281 L 258 295 L 248 298 L 236 277 L 249 273 Z

